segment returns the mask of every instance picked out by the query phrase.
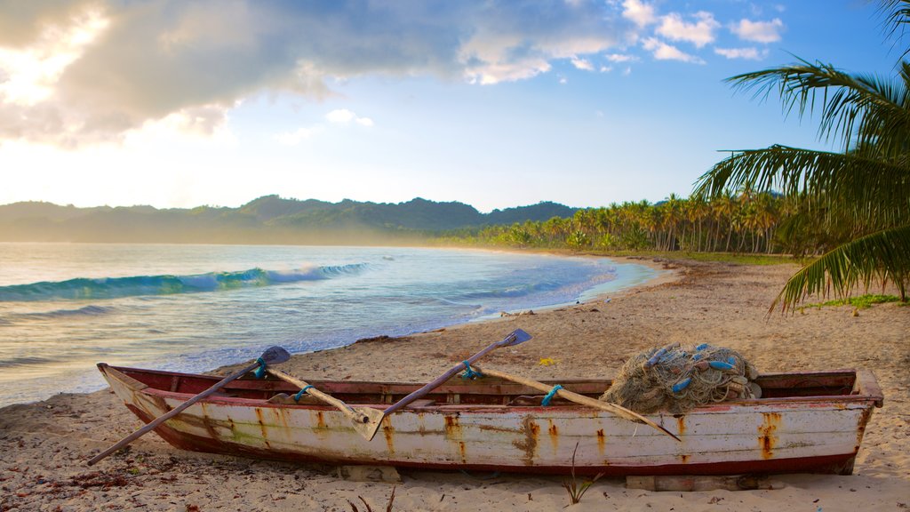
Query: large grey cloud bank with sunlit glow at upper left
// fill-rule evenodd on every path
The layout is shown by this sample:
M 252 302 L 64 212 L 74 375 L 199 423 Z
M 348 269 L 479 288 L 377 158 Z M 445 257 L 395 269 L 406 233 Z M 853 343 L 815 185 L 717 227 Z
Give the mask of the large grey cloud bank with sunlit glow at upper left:
M 193 129 L 211 129 L 245 97 L 320 99 L 334 94 L 334 80 L 368 75 L 527 79 L 554 60 L 616 46 L 627 27 L 610 9 L 562 0 L 0 0 L 0 142 L 109 142 L 149 121 L 199 118 L 199 108 L 206 121 Z

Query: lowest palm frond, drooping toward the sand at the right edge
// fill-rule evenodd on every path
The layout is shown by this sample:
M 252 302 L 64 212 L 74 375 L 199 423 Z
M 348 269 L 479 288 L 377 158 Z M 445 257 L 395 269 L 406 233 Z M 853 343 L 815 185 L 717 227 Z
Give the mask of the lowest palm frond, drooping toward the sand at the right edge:
M 910 224 L 850 241 L 806 265 L 786 283 L 771 304 L 782 312 L 793 312 L 796 304 L 810 295 L 846 297 L 854 288 L 872 282 L 893 282 L 901 300 L 907 300 L 910 285 Z

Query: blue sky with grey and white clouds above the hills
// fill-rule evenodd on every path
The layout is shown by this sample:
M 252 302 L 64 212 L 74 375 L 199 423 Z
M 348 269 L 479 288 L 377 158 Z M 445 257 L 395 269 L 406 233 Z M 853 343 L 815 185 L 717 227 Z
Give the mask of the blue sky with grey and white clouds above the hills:
M 865 0 L 0 0 L 0 204 L 688 196 L 830 148 L 727 77 L 895 76 Z

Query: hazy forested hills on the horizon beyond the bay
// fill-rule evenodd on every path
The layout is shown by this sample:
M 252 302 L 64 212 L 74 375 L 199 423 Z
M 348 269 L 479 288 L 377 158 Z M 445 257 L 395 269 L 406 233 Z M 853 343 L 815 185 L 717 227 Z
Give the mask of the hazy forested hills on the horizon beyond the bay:
M 446 230 L 571 217 L 553 202 L 480 213 L 460 202 L 420 198 L 392 203 L 252 200 L 239 208 L 158 210 L 151 206 L 76 208 L 48 202 L 0 206 L 0 241 L 177 243 L 407 242 Z

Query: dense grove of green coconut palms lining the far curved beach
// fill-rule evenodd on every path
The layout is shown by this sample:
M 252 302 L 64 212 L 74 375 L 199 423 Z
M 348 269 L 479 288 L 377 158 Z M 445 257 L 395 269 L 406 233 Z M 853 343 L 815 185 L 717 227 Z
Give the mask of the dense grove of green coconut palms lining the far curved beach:
M 844 233 L 804 221 L 804 200 L 772 192 L 707 199 L 671 194 L 650 203 L 613 203 L 572 217 L 450 231 L 448 241 L 573 251 L 689 251 L 798 256 L 830 250 Z

